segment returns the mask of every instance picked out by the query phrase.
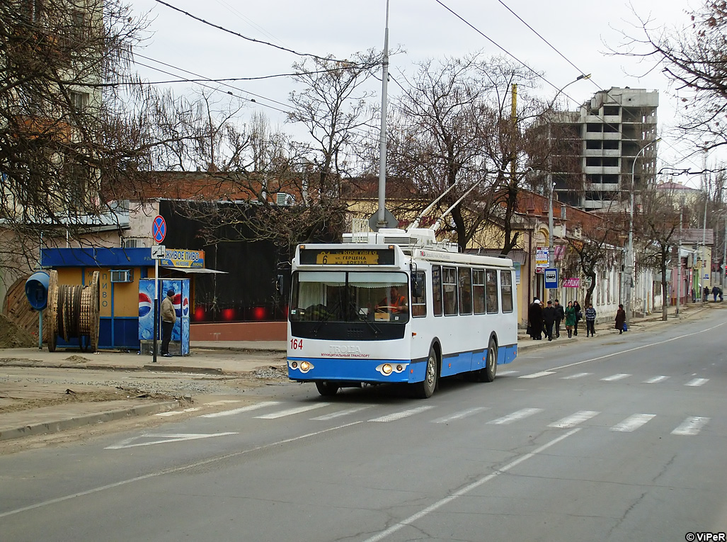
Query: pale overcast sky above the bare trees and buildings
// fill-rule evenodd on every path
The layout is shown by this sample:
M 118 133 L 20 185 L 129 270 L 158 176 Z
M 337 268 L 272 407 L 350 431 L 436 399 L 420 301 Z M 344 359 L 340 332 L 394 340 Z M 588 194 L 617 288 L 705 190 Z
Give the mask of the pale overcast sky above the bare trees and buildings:
M 698 6 L 697 1 L 691 0 L 690 5 Z M 167 3 L 230 31 L 297 52 L 346 58 L 354 52 L 383 47 L 386 0 L 169 0 Z M 255 44 L 204 25 L 155 0 L 130 0 L 130 4 L 137 15 L 149 13 L 152 20 L 150 38 L 137 53 L 157 61 L 137 57 L 137 62 L 177 76 L 191 77 L 182 70 L 210 79 L 289 73 L 291 64 L 301 59 L 290 52 Z M 659 135 L 663 138 L 659 143 L 659 167 L 701 170 L 702 159 L 683 159 L 684 149 L 670 135 L 677 102 L 670 95 L 661 71 L 648 73 L 651 68 L 648 64 L 606 55 L 609 47 L 617 48 L 624 41 L 622 32 L 642 36 L 637 15 L 651 20 L 652 27 L 683 27 L 688 24 L 686 9 L 688 3 L 684 0 L 632 0 L 630 3 L 622 0 L 441 0 L 441 3 L 437 0 L 390 0 L 390 47 L 405 50 L 391 58 L 390 72 L 394 77 L 399 71 L 411 73 L 412 63 L 427 58 L 459 57 L 477 51 L 486 55 L 505 55 L 502 50 L 505 49 L 531 68 L 545 72 L 546 79 L 555 88 L 564 87 L 581 73 L 592 74 L 592 79 L 570 84 L 565 90 L 564 94 L 577 103 L 582 103 L 598 89 L 657 89 Z M 142 65 L 138 66 L 138 71 L 148 81 L 175 79 Z M 283 104 L 294 89 L 291 79 L 238 81 L 231 85 L 234 88 L 225 87 L 225 91 L 255 100 L 255 103 L 249 103 L 250 115 L 256 108 L 260 109 L 273 124 L 294 133 L 294 129 L 284 126 L 284 115 L 277 111 L 286 109 Z M 188 92 L 190 88 L 189 84 L 181 83 L 169 86 L 177 94 Z M 543 81 L 545 97 L 555 95 L 557 90 L 553 86 Z M 389 92 L 396 94 L 395 84 L 390 84 Z M 577 104 L 570 102 L 569 108 L 576 109 Z M 710 157 L 710 162 L 715 159 L 716 156 Z M 675 180 L 686 182 L 684 176 Z M 695 178 L 689 184 L 698 182 Z

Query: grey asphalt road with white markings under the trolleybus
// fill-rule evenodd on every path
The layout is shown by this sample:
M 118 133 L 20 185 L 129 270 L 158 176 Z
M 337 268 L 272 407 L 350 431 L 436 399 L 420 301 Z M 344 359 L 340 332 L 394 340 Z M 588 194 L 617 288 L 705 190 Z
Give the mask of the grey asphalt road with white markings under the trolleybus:
M 724 532 L 726 335 L 727 314 L 709 311 L 648 333 L 531 349 L 494 383 L 446 380 L 427 400 L 385 387 L 324 399 L 289 383 L 254 391 L 245 407 L 7 455 L 0 538 L 683 541 Z

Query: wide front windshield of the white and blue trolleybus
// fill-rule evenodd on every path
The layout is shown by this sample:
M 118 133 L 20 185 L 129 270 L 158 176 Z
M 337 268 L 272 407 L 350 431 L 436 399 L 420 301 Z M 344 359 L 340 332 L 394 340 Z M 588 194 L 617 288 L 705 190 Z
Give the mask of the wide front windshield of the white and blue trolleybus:
M 409 282 L 397 271 L 297 271 L 291 322 L 409 321 Z

